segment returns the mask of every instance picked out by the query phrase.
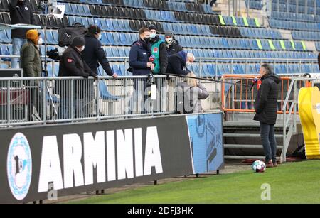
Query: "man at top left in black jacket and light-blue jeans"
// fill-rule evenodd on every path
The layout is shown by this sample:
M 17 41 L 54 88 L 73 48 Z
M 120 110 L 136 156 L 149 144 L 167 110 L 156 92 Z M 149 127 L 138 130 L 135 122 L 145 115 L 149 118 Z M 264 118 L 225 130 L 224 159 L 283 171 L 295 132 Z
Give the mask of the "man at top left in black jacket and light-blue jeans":
M 11 0 L 9 10 L 12 24 L 34 24 L 32 8 L 25 0 Z M 20 55 L 21 47 L 26 43 L 27 31 L 26 28 L 16 28 L 11 31 L 13 55 Z M 11 68 L 18 68 L 18 58 L 12 58 Z

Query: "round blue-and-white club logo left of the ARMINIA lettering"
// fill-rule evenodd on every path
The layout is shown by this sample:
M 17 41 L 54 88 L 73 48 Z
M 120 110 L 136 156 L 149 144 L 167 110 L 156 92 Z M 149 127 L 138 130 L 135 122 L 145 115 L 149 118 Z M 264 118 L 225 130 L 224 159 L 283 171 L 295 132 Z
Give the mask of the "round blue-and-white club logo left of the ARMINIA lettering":
M 23 200 L 28 194 L 32 175 L 31 150 L 23 133 L 16 133 L 11 139 L 6 161 L 12 195 L 16 200 Z

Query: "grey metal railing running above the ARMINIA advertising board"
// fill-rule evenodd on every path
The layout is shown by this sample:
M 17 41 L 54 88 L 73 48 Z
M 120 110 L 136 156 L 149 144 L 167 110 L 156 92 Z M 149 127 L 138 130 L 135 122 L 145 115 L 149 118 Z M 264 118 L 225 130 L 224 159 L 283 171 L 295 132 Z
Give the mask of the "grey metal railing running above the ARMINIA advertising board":
M 178 77 L 0 79 L 0 126 L 174 114 Z

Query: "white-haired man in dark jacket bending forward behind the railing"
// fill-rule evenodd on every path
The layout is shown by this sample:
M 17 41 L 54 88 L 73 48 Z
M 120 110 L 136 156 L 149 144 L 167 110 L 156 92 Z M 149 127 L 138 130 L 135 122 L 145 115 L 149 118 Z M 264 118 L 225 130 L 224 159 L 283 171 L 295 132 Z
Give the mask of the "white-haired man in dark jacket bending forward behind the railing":
M 166 68 L 166 73 L 177 74 L 177 75 L 187 75 L 190 70 L 191 63 L 194 62 L 195 57 L 192 53 L 186 53 L 184 51 L 178 52 L 168 58 L 168 67 Z

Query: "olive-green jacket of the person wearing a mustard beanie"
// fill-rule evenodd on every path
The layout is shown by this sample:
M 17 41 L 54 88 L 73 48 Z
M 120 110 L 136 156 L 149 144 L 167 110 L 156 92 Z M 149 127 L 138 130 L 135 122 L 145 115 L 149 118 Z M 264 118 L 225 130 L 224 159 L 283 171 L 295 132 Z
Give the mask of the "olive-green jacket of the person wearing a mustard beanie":
M 41 77 L 41 58 L 37 46 L 28 40 L 21 48 L 20 67 L 24 77 Z

